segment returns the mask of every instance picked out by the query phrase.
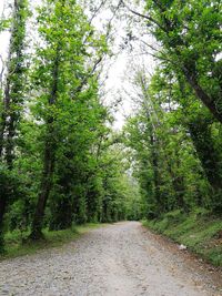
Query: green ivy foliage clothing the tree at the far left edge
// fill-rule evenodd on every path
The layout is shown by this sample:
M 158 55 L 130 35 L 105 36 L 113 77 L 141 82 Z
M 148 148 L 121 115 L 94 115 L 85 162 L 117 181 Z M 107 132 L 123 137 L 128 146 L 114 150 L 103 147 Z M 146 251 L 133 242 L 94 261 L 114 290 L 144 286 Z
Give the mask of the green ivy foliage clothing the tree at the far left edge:
M 14 198 L 21 198 L 20 192 L 23 192 L 20 186 L 19 173 L 13 170 L 13 161 L 17 157 L 16 140 L 24 103 L 23 90 L 27 73 L 24 39 L 28 17 L 28 1 L 14 1 L 7 61 L 8 71 L 0 95 L 0 251 L 3 245 L 4 213 Z M 7 25 L 6 20 L 1 20 L 0 31 L 6 29 L 4 25 Z

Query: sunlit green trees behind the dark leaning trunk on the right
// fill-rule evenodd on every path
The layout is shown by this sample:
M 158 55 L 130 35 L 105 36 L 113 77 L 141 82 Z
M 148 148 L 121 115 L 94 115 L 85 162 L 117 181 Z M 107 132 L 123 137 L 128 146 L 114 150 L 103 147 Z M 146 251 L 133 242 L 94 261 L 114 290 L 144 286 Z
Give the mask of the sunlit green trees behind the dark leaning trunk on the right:
M 170 81 L 160 70 L 150 82 L 144 72 L 139 72 L 135 79 L 139 109 L 124 130 L 125 144 L 133 150 L 147 217 L 210 205 L 204 167 L 185 124 L 189 119 L 181 118 L 174 89 L 178 84 Z

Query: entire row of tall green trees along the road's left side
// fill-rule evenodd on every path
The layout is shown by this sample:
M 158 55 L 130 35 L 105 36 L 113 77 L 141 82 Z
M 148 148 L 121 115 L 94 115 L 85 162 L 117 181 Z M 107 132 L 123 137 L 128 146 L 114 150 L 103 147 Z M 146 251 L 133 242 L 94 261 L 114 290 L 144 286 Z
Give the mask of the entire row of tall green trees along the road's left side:
M 47 0 L 36 10 L 16 0 L 0 24 L 10 30 L 0 106 L 1 249 L 14 228 L 39 239 L 43 227 L 137 216 L 137 188 L 101 102 L 109 28 L 98 32 L 75 0 Z

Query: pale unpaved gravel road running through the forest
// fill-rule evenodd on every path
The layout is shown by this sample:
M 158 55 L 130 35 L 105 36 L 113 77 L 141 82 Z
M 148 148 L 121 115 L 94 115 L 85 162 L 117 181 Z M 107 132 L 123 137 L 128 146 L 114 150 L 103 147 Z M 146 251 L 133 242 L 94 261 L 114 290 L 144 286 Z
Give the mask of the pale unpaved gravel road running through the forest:
M 0 263 L 0 295 L 11 296 L 218 296 L 220 279 L 220 272 L 138 222 Z

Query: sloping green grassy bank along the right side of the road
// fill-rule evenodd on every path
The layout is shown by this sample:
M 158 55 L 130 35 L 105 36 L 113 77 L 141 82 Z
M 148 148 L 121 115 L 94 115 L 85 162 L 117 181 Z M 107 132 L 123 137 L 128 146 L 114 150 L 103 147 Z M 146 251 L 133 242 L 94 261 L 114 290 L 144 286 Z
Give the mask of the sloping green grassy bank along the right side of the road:
M 222 220 L 205 210 L 199 208 L 189 215 L 174 211 L 143 225 L 185 245 L 213 265 L 222 266 Z

